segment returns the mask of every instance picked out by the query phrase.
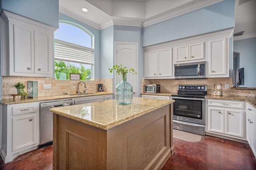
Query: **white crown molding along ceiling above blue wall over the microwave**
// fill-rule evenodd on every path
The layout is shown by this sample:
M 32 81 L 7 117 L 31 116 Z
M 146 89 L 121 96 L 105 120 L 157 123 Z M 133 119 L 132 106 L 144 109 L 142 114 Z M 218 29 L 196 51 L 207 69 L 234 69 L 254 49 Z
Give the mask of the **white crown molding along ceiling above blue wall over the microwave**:
M 147 27 L 149 25 L 153 25 L 165 20 L 169 20 L 171 18 L 175 18 L 177 16 L 181 16 L 183 14 L 187 14 L 189 12 L 199 10 L 201 8 L 204 8 L 206 6 L 210 6 L 213 4 L 216 4 L 218 2 L 222 2 L 223 0 L 204 0 L 200 2 L 190 2 L 186 4 L 186 6 L 181 6 L 179 8 L 176 8 L 174 11 L 169 10 L 167 14 L 157 16 L 155 18 L 149 18 L 148 20 L 143 22 L 143 27 Z

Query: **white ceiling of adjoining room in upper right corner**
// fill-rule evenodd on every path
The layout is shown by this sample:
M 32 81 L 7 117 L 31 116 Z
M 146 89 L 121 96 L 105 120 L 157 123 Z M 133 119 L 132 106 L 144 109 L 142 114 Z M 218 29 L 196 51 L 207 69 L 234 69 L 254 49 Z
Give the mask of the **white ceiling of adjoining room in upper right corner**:
M 237 0 L 235 7 L 234 33 L 244 31 L 234 37 L 234 41 L 256 37 L 256 0 Z

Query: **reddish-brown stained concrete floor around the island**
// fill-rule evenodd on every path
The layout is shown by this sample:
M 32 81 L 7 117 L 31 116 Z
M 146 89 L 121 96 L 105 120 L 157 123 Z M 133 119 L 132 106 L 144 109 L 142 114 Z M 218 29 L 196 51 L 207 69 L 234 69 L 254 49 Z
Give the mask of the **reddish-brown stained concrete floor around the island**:
M 162 170 L 256 170 L 256 158 L 249 145 L 204 136 L 187 142 L 174 138 L 174 154 Z M 52 170 L 52 145 L 22 154 L 0 170 Z

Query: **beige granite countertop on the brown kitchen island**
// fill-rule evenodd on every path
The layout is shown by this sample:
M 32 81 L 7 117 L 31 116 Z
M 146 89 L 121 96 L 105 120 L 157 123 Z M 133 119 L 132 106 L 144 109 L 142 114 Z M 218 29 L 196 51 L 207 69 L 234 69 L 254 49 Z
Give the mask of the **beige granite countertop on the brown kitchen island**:
M 130 105 L 118 105 L 116 100 L 105 100 L 57 107 L 50 111 L 107 130 L 173 102 L 174 100 L 133 98 Z

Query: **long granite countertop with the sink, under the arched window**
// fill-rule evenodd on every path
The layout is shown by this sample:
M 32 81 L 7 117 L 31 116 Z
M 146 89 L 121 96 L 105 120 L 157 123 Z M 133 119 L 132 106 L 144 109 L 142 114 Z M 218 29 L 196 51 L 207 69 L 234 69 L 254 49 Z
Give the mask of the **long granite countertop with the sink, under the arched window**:
M 92 94 L 78 95 L 78 96 L 72 96 L 72 95 L 38 96 L 36 98 L 28 98 L 25 100 L 21 100 L 20 98 L 18 98 L 18 96 L 16 96 L 15 101 L 13 99 L 4 99 L 4 100 L 1 100 L 0 103 L 3 105 L 8 105 L 8 104 L 19 104 L 19 103 L 29 103 L 29 102 L 43 102 L 48 100 L 61 100 L 61 99 L 81 98 L 81 97 L 89 97 L 89 96 L 100 96 L 100 95 L 106 95 L 106 94 L 113 94 L 113 93 L 95 92 Z

